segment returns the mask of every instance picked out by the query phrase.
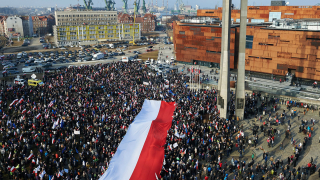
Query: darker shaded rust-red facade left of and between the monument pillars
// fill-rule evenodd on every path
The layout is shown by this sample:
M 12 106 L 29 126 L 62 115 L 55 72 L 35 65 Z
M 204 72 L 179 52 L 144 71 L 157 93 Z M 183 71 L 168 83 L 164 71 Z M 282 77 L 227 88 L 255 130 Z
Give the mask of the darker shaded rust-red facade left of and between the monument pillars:
M 220 26 L 173 23 L 174 48 L 178 61 L 189 64 L 219 67 L 221 55 Z M 230 68 L 234 67 L 236 28 L 231 28 L 230 34 Z

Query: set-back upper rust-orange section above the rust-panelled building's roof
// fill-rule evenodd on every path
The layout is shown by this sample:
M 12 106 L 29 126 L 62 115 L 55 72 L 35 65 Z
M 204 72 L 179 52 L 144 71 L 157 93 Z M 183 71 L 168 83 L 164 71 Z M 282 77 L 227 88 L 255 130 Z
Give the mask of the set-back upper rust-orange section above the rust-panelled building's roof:
M 320 6 L 248 6 L 249 22 L 264 20 L 271 22 L 273 18 L 284 19 L 304 19 L 320 18 Z M 222 8 L 199 9 L 197 16 L 215 17 L 222 19 Z M 240 19 L 240 10 L 232 10 L 231 18 L 236 21 Z

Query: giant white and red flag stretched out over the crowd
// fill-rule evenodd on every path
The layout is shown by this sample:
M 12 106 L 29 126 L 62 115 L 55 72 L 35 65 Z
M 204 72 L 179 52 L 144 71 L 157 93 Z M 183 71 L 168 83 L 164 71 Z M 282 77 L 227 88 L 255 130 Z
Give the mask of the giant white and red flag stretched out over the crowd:
M 145 100 L 99 180 L 155 180 L 160 177 L 174 110 L 174 102 Z

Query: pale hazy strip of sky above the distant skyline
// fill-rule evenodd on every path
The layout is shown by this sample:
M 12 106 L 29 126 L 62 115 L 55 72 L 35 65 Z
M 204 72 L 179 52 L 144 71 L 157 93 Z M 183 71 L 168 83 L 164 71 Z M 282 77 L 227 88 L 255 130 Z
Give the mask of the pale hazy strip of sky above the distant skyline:
M 83 0 L 1 0 L 0 7 L 3 6 L 14 6 L 14 7 L 55 7 L 56 5 L 58 7 L 65 7 L 65 6 L 70 6 L 80 4 L 83 5 Z M 142 1 L 140 0 L 140 4 L 142 5 Z M 218 5 L 219 7 L 222 6 L 222 0 L 182 0 L 184 4 L 191 5 L 192 7 L 195 7 L 195 5 L 199 5 L 200 8 L 214 8 L 215 5 Z M 115 7 L 122 7 L 123 2 L 122 0 L 115 0 L 116 5 Z M 128 0 L 128 5 L 129 7 L 133 7 L 133 2 L 134 0 Z M 148 2 L 152 2 L 152 0 L 145 0 L 146 4 Z M 163 0 L 158 0 L 158 6 L 162 6 Z M 169 7 L 173 8 L 174 3 L 176 0 L 168 0 L 169 2 Z M 252 6 L 269 6 L 271 0 L 248 0 L 248 5 Z M 302 0 L 289 0 L 286 1 L 289 2 L 290 6 L 313 6 L 316 5 L 317 3 L 320 3 L 320 0 L 307 0 L 307 1 L 302 1 Z M 94 7 L 104 7 L 105 3 L 104 0 L 93 0 Z M 164 0 L 165 5 L 167 4 L 167 0 Z M 239 7 L 240 0 L 234 0 L 233 3 L 235 4 L 236 7 Z M 153 0 L 153 4 L 156 4 L 156 0 Z

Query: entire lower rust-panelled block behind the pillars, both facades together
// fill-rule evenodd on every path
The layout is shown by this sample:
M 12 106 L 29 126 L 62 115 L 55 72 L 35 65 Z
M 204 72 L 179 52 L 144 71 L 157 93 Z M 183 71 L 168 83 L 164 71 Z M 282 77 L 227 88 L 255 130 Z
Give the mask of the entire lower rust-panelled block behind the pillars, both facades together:
M 187 64 L 219 67 L 221 27 L 174 23 L 176 59 Z M 237 68 L 239 25 L 231 26 L 230 68 Z M 248 25 L 246 70 L 320 81 L 320 30 L 276 29 Z

